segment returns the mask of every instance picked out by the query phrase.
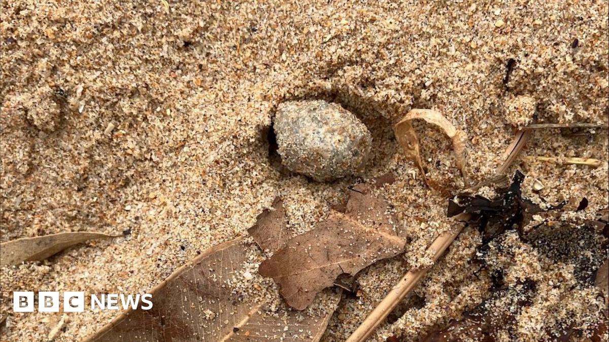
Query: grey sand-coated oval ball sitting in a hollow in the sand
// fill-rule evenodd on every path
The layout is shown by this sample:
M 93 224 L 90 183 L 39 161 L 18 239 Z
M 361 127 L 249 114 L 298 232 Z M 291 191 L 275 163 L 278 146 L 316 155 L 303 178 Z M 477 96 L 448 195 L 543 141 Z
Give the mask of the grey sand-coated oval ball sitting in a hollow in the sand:
M 273 127 L 284 166 L 316 181 L 357 174 L 370 155 L 370 131 L 336 103 L 281 103 Z

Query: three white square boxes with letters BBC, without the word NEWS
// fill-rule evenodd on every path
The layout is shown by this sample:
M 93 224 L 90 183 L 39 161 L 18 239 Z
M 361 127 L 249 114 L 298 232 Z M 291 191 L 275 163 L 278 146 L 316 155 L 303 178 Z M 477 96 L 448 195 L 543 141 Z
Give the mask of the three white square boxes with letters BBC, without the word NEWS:
M 31 291 L 13 292 L 13 311 L 14 312 L 34 312 L 34 293 Z M 63 293 L 64 312 L 83 312 L 85 311 L 85 293 L 79 291 L 65 291 Z M 38 311 L 39 312 L 59 312 L 60 295 L 58 291 L 38 292 Z

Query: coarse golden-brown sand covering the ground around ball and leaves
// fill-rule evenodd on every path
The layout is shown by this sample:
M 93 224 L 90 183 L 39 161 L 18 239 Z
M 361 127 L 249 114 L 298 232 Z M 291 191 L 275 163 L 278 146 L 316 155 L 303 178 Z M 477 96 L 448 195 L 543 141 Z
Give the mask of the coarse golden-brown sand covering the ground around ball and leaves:
M 346 177 L 314 183 L 270 165 L 270 117 L 288 100 L 340 103 L 373 136 L 362 178 L 378 190 L 409 245 L 363 270 L 362 295 L 345 296 L 323 341 L 353 332 L 446 231 L 446 199 L 428 189 L 397 146 L 392 124 L 411 108 L 442 113 L 468 136 L 468 175 L 493 176 L 518 127 L 607 122 L 607 1 L 32 1 L 0 3 L 2 242 L 65 231 L 131 234 L 70 248 L 44 262 L 0 269 L 3 340 L 79 341 L 119 313 L 12 313 L 12 291 L 143 293 L 210 246 L 245 235 L 284 198 L 294 234 L 342 202 Z M 531 113 L 533 111 L 533 113 Z M 463 187 L 449 139 L 415 122 L 429 177 Z M 517 159 L 524 197 L 582 197 L 580 220 L 607 209 L 607 130 L 535 130 L 527 155 L 600 159 L 599 167 Z M 533 191 L 533 182 L 543 189 Z M 488 189 L 487 189 L 488 190 Z M 468 262 L 480 243 L 466 229 L 371 340 L 422 338 L 488 295 Z M 505 340 L 551 340 L 560 324 L 586 340 L 600 320 L 598 292 L 505 236 L 508 281 L 538 282 Z M 256 253 L 255 248 L 250 251 Z M 258 252 L 259 253 L 259 252 Z M 274 282 L 236 288 L 275 301 Z M 559 285 L 557 279 L 563 279 Z M 506 301 L 509 302 L 509 301 Z M 324 301 L 317 301 L 317 310 Z M 501 307 L 501 306 L 500 306 Z M 323 308 L 322 308 L 323 309 Z M 62 320 L 63 319 L 63 320 Z M 57 326 L 62 326 L 57 330 Z M 605 340 L 606 341 L 606 340 Z

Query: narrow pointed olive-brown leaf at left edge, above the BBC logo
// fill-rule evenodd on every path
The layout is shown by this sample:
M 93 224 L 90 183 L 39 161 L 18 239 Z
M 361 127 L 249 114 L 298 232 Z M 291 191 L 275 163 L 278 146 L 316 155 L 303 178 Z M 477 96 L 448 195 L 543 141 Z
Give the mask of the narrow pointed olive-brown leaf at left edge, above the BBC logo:
M 117 236 L 99 232 L 60 232 L 0 243 L 0 265 L 16 265 L 24 261 L 44 260 L 77 243 L 110 237 Z

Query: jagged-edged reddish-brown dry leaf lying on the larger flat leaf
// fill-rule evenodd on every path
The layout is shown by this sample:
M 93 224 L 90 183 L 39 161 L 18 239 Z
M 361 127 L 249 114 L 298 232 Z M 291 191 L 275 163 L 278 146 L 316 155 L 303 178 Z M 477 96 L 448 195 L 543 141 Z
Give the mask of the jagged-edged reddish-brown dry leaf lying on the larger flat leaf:
M 354 275 L 404 251 L 406 242 L 395 234 L 389 211 L 389 204 L 360 184 L 351 190 L 345 214 L 333 211 L 311 231 L 288 240 L 258 272 L 280 285 L 287 305 L 303 310 L 341 274 Z

